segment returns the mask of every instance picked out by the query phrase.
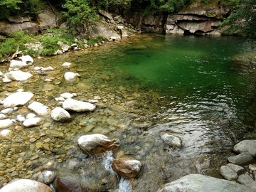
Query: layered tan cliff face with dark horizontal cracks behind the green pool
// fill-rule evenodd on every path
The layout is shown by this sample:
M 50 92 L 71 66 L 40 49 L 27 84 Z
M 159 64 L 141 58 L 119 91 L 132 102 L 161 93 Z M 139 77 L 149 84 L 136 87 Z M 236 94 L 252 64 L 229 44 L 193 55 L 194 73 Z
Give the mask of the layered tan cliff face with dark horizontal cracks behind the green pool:
M 219 26 L 230 9 L 220 2 L 184 7 L 178 14 L 169 15 L 166 21 L 166 33 L 220 34 Z

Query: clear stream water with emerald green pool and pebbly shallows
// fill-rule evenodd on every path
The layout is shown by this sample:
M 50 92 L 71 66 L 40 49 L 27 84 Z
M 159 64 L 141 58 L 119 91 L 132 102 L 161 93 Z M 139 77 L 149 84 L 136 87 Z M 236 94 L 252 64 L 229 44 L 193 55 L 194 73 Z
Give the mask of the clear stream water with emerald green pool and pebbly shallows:
M 26 68 L 33 74 L 28 82 L 0 82 L 0 99 L 23 89 L 53 109 L 59 105 L 55 97 L 70 92 L 76 100 L 96 98 L 97 109 L 73 112 L 65 123 L 46 117 L 40 126 L 25 128 L 16 122 L 12 137 L 0 143 L 0 180 L 36 178 L 48 162 L 93 191 L 157 191 L 191 173 L 220 178 L 233 145 L 255 138 L 245 119 L 255 97 L 256 70 L 238 59 L 249 52 L 250 41 L 243 38 L 143 34 L 36 59 Z M 64 62 L 73 68 L 61 68 Z M 38 73 L 36 66 L 54 70 Z M 65 82 L 66 71 L 81 77 Z M 29 112 L 20 107 L 9 117 Z M 95 133 L 120 142 L 114 158 L 142 162 L 139 177 L 124 185 L 129 189 L 105 169 L 110 154 L 87 156 L 79 148 L 80 136 Z M 180 137 L 181 149 L 171 149 L 160 137 L 164 133 Z

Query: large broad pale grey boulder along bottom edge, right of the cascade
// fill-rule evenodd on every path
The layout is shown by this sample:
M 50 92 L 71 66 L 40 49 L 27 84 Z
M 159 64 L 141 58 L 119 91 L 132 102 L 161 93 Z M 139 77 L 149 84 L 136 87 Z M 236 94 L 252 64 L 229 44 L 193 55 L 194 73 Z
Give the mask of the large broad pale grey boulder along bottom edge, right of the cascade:
M 233 181 L 220 178 L 203 176 L 200 174 L 189 174 L 182 178 L 167 183 L 164 188 L 157 192 L 256 192 L 247 186 L 240 185 Z

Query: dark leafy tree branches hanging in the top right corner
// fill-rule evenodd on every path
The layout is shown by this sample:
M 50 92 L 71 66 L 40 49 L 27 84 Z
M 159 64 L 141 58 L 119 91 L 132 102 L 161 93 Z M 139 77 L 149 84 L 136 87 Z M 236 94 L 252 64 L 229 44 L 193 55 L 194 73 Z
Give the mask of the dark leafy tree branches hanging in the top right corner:
M 225 0 L 233 12 L 222 23 L 230 26 L 225 33 L 240 33 L 256 39 L 256 0 Z

